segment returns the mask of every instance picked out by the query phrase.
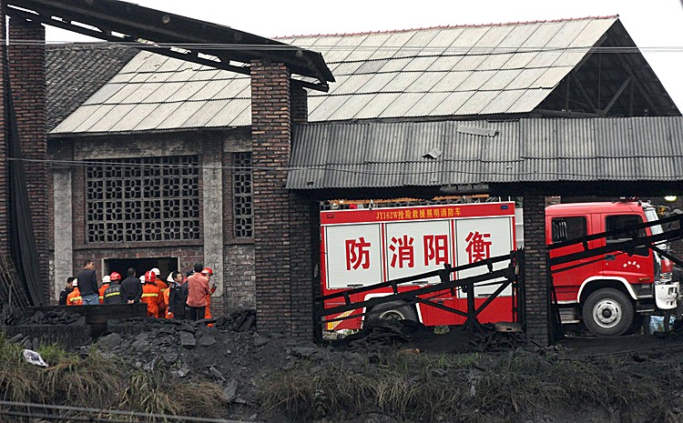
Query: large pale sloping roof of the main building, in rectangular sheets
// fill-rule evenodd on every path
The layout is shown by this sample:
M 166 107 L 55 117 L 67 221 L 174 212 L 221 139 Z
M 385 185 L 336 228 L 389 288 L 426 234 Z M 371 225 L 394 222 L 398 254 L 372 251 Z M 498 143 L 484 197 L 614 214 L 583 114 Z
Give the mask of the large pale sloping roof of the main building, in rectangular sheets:
M 538 106 L 550 93 L 546 88 L 557 86 L 616 21 L 585 18 L 280 40 L 320 51 L 337 77 L 329 93 L 309 94 L 311 122 L 510 114 Z M 544 50 L 549 47 L 556 51 Z M 246 76 L 141 52 L 53 133 L 249 125 L 249 107 L 241 101 L 228 106 L 250 97 L 249 84 Z M 403 92 L 414 95 L 395 96 Z M 212 104 L 218 115 L 206 118 L 190 114 L 197 105 L 160 106 L 193 101 L 202 109 L 211 102 L 223 106 Z M 167 115 L 140 121 L 128 113 L 139 105 L 156 105 L 154 115 Z M 92 116 L 103 111 L 112 115 L 106 121 L 113 116 L 119 121 L 91 124 Z

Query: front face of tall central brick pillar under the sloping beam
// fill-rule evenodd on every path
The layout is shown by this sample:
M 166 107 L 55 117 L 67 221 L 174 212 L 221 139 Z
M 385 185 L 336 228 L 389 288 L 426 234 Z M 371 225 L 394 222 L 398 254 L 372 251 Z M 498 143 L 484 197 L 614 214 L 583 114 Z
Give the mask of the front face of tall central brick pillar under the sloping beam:
M 291 336 L 291 255 L 286 167 L 291 156 L 290 71 L 251 62 L 256 309 L 260 331 Z

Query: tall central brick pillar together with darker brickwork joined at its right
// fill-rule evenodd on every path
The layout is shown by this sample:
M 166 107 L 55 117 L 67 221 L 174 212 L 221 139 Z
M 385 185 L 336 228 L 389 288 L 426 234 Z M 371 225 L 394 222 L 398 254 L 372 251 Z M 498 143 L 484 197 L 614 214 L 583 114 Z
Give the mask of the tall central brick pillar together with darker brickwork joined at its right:
M 307 118 L 306 93 L 282 64 L 251 63 L 251 156 L 257 325 L 312 336 L 311 201 L 285 189 L 292 121 Z

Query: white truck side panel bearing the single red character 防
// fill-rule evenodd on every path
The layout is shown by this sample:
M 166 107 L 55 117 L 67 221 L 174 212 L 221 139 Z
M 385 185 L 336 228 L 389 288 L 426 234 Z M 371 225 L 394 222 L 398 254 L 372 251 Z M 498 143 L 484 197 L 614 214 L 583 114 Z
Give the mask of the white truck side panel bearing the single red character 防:
M 364 287 L 382 282 L 379 223 L 325 227 L 328 288 Z

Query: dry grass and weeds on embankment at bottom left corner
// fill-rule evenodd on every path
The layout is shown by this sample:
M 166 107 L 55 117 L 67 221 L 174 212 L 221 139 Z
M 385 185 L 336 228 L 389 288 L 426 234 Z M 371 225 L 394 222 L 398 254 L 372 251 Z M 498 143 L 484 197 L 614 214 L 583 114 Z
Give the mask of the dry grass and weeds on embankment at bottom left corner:
M 5 401 L 202 418 L 220 417 L 226 405 L 219 385 L 179 381 L 159 368 L 141 371 L 95 349 L 83 358 L 55 345 L 41 346 L 38 352 L 48 368 L 26 363 L 21 351 L 0 334 L 0 398 Z M 0 416 L 0 421 L 18 420 Z

